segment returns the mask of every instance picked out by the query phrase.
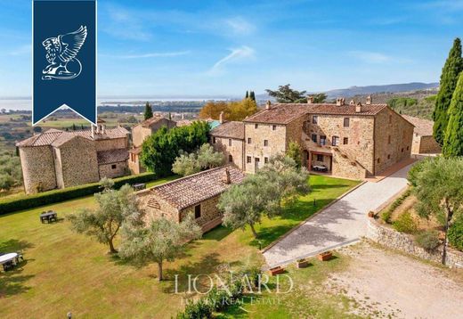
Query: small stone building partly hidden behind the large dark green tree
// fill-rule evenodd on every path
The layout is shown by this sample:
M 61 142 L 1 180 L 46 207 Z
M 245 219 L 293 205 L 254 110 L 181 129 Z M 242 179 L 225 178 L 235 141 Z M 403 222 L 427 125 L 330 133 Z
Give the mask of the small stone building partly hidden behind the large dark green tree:
M 166 119 L 160 115 L 155 115 L 151 119 L 145 119 L 142 123 L 132 127 L 132 143 L 133 148 L 129 151 L 130 158 L 128 165 L 134 174 L 140 174 L 145 171 L 140 163 L 140 153 L 142 151 L 142 143 L 150 135 L 158 131 L 161 127 L 170 129 L 176 126 L 176 122 L 172 119 Z

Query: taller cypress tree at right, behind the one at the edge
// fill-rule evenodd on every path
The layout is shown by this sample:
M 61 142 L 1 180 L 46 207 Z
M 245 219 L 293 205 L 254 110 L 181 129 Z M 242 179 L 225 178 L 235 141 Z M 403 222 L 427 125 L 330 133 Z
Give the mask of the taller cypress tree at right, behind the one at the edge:
M 463 59 L 461 58 L 461 41 L 457 37 L 449 53 L 449 57 L 443 65 L 443 73 L 439 85 L 439 93 L 435 99 L 435 110 L 433 119 L 433 135 L 437 143 L 443 145 L 443 139 L 449 121 L 448 110 L 451 104 L 451 94 L 457 86 L 459 73 L 463 70 Z

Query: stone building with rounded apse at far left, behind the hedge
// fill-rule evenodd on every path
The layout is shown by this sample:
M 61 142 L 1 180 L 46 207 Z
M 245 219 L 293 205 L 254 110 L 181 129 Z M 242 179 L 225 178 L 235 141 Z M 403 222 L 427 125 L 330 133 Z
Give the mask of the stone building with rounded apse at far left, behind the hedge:
M 98 182 L 128 173 L 128 131 L 107 129 L 99 120 L 91 130 L 49 129 L 17 143 L 26 193 Z

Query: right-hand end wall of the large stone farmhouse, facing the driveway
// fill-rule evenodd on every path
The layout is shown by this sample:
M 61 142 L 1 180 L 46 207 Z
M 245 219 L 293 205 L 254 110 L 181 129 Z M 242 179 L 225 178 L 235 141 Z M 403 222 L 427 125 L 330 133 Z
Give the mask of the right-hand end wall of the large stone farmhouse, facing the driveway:
M 413 128 L 408 121 L 394 110 L 385 108 L 378 113 L 374 131 L 374 174 L 384 171 L 403 159 L 410 159 Z

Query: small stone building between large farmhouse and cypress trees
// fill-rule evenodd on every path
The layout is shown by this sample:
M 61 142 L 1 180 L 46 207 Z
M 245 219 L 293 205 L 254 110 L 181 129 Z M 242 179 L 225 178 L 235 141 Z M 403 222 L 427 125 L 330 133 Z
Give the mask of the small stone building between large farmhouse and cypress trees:
M 411 144 L 411 152 L 413 154 L 441 153 L 441 145 L 435 142 L 433 136 L 433 121 L 410 117 L 409 115 L 402 115 L 402 117 L 415 126 L 413 131 L 413 143 Z

